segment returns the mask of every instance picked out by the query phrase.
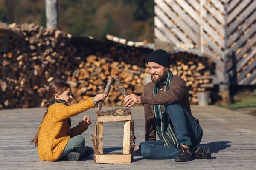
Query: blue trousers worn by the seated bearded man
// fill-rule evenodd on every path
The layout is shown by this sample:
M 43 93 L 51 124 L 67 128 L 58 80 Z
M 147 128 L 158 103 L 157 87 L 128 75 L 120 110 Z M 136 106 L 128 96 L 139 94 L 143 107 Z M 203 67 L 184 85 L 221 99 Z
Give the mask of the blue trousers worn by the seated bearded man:
M 179 146 L 188 145 L 190 149 L 197 147 L 201 142 L 203 130 L 189 111 L 181 102 L 173 102 L 165 107 Z M 175 159 L 180 153 L 177 148 L 164 146 L 160 140 L 142 142 L 139 152 L 145 159 Z

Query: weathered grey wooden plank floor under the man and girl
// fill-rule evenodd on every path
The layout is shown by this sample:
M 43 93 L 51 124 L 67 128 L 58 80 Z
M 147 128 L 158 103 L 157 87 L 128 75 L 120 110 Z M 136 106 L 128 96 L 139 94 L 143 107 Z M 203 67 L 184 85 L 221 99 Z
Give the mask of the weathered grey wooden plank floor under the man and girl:
M 102 108 L 109 110 L 113 108 Z M 144 109 L 132 107 L 136 146 L 144 140 Z M 256 117 L 229 111 L 215 106 L 192 106 L 193 115 L 200 120 L 204 130 L 201 146 L 208 145 L 211 160 L 194 160 L 175 163 L 174 160 L 146 160 L 134 156 L 131 164 L 95 164 L 93 156 L 81 161 L 40 161 L 37 149 L 29 145 L 44 115 L 44 108 L 0 110 L 0 169 L 201 169 L 244 170 L 256 169 Z M 96 108 L 72 118 L 72 126 L 89 115 L 96 121 Z M 87 146 L 92 147 L 90 135 L 93 124 L 82 135 Z M 104 124 L 104 153 L 122 153 L 122 122 Z

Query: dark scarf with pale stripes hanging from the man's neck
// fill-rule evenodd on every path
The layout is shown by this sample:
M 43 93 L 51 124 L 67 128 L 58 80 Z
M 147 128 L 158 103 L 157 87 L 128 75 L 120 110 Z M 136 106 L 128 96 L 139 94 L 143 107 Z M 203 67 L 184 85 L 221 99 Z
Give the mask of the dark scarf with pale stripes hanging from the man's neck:
M 159 83 L 158 85 L 154 84 L 153 94 L 158 94 L 159 85 L 166 85 L 164 91 L 169 90 L 169 84 L 172 79 L 172 71 L 168 71 L 168 76 L 163 80 L 165 84 Z M 166 108 L 163 107 L 163 111 L 161 112 L 160 105 L 153 105 L 154 110 L 154 120 L 156 124 L 157 135 L 159 139 L 164 143 L 165 146 L 168 147 L 178 147 L 178 142 L 171 127 L 171 120 L 169 119 L 168 113 L 166 112 Z

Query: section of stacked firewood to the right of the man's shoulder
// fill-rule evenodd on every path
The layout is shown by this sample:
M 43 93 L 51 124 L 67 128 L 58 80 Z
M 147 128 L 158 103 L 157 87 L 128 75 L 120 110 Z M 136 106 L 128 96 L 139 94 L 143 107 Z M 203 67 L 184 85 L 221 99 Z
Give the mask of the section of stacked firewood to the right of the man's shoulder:
M 207 58 L 184 53 L 171 55 L 170 70 L 186 81 L 192 104 L 198 103 L 197 92 L 207 91 L 214 86 L 212 83 L 214 68 L 213 62 Z

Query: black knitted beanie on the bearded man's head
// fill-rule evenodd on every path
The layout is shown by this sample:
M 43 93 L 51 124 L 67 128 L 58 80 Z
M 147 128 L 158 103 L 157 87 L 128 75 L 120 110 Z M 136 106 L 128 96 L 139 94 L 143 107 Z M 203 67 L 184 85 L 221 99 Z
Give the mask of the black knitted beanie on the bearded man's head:
M 147 58 L 147 64 L 148 62 L 155 62 L 157 64 L 162 65 L 163 67 L 170 68 L 170 56 L 164 50 L 156 50 L 149 54 Z

